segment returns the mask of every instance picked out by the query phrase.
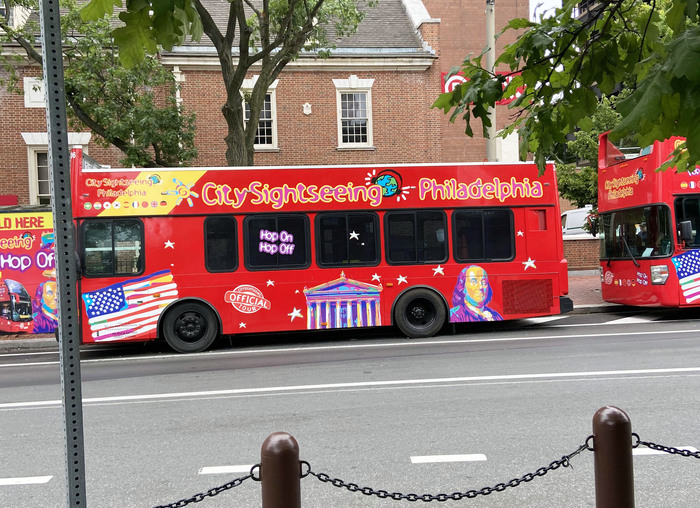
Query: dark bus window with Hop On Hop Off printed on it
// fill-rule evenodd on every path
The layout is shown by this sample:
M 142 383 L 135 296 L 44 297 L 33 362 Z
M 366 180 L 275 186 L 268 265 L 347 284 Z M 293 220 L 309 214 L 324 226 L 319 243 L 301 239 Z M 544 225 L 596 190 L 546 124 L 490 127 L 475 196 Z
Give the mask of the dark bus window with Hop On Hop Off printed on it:
M 306 268 L 309 219 L 305 215 L 246 217 L 246 266 L 251 270 Z

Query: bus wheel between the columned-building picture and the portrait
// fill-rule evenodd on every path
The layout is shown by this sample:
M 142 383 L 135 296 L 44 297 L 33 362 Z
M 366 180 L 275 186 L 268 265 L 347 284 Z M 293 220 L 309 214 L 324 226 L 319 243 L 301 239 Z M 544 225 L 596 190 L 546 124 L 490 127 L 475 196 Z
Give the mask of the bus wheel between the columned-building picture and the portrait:
M 396 325 L 406 336 L 419 339 L 432 337 L 445 324 L 445 304 L 429 289 L 414 289 L 396 303 Z

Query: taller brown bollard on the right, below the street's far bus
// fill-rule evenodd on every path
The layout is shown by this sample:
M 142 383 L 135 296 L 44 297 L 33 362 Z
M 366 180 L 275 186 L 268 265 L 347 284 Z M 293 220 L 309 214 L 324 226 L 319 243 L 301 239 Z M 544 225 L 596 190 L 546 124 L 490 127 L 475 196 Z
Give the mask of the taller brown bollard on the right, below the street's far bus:
M 605 406 L 593 416 L 596 508 L 634 508 L 632 423 L 622 409 Z

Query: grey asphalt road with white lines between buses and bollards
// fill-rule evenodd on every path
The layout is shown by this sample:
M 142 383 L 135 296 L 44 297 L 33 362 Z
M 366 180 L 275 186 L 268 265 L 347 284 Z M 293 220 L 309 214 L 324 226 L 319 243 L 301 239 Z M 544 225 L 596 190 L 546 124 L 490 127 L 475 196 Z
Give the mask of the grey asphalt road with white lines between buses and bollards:
M 586 441 L 606 405 L 626 411 L 643 440 L 700 448 L 699 331 L 692 313 L 666 311 L 472 325 L 430 340 L 386 331 L 253 337 L 197 355 L 87 348 L 87 506 L 206 492 L 247 474 L 276 431 L 296 438 L 316 473 L 419 495 L 480 490 L 546 467 Z M 55 345 L 0 353 L 0 450 L 0 506 L 65 506 Z M 593 453 L 571 465 L 446 504 L 595 506 Z M 697 505 L 697 459 L 635 455 L 634 468 L 637 507 Z M 306 508 L 411 504 L 313 476 L 301 488 Z M 261 506 L 260 484 L 246 480 L 197 506 Z

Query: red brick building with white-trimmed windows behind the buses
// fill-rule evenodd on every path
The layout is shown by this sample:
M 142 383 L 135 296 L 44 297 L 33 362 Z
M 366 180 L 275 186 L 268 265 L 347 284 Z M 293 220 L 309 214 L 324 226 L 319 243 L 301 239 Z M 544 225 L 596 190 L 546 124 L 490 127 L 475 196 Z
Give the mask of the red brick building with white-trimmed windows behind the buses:
M 215 19 L 225 19 L 227 2 L 208 3 Z M 527 15 L 527 2 L 499 0 L 496 31 L 507 20 Z M 256 146 L 255 164 L 484 160 L 480 126 L 474 126 L 477 137 L 468 138 L 463 122 L 449 124 L 446 115 L 430 106 L 441 93 L 443 73 L 483 49 L 485 23 L 483 1 L 381 0 L 367 11 L 357 34 L 338 39 L 330 58 L 304 54 L 285 67 L 269 90 L 266 131 Z M 500 38 L 498 47 L 512 39 L 512 34 Z M 200 166 L 225 164 L 226 150 L 225 89 L 218 58 L 207 42 L 205 36 L 200 43 L 163 54 L 180 82 L 185 108 L 197 114 L 199 157 L 194 164 Z M 36 67 L 21 70 L 24 96 L 0 89 L 5 135 L 0 196 L 40 204 L 48 202 L 49 194 L 46 112 L 43 93 L 35 90 L 41 73 Z M 253 69 L 251 87 L 255 79 Z M 349 106 L 354 114 L 364 113 L 367 121 L 367 130 L 352 139 L 341 135 L 343 105 L 345 111 Z M 498 117 L 502 126 L 505 112 Z M 97 146 L 91 133 L 70 132 L 68 137 L 69 144 L 82 145 L 98 161 L 119 166 L 120 152 Z

